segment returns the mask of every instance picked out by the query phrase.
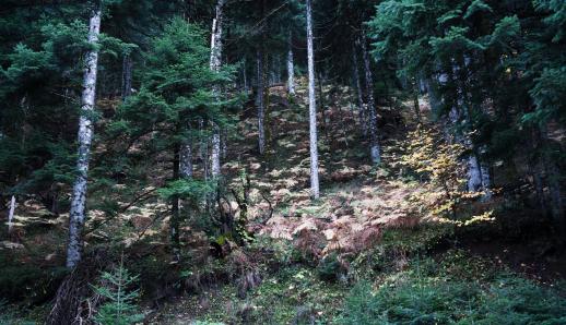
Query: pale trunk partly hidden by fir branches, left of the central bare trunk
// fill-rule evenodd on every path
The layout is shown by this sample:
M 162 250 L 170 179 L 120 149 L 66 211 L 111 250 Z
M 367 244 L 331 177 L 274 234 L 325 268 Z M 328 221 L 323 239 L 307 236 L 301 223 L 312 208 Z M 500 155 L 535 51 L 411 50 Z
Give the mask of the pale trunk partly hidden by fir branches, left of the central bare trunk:
M 219 0 L 216 3 L 216 16 L 212 21 L 211 33 L 211 51 L 210 51 L 210 69 L 219 72 L 222 65 L 222 24 L 224 21 L 224 0 Z M 220 88 L 214 87 L 214 95 L 220 99 Z M 220 143 L 220 128 L 216 123 L 212 125 L 212 178 L 216 179 L 221 174 L 221 143 Z

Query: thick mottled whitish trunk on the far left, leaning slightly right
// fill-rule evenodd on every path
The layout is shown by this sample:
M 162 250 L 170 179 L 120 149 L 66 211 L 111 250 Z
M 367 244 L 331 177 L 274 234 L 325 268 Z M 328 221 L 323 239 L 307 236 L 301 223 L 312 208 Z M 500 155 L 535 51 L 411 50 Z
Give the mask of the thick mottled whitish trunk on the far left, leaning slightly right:
M 89 24 L 89 44 L 95 45 L 101 34 L 102 9 L 93 10 Z M 79 153 L 76 161 L 78 176 L 73 185 L 71 210 L 69 214 L 69 246 L 67 249 L 67 267 L 74 267 L 81 261 L 83 248 L 82 230 L 85 219 L 86 180 L 89 159 L 93 137 L 92 112 L 96 95 L 96 74 L 98 72 L 98 52 L 93 48 L 86 53 L 84 70 L 81 117 L 79 120 Z

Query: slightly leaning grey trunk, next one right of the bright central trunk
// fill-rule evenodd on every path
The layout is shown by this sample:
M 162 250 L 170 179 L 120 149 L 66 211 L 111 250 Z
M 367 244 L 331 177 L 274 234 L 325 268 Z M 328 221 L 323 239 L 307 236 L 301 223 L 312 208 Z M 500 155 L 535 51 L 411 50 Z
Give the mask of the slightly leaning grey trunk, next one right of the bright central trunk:
M 376 100 L 374 98 L 374 76 L 372 74 L 372 67 L 369 62 L 369 55 L 366 49 L 365 36 L 362 37 L 362 56 L 364 57 L 364 70 L 366 81 L 366 96 L 367 96 L 367 111 L 369 116 L 369 146 L 372 162 L 378 165 L 381 162 L 381 148 L 379 147 L 379 140 L 377 137 L 377 112 Z

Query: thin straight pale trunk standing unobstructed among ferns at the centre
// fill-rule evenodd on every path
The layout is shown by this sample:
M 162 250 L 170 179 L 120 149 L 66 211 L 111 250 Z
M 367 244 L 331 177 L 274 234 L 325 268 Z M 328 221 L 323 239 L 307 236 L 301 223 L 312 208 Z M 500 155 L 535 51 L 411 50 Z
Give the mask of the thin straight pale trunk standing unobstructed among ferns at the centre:
M 310 194 L 320 197 L 318 183 L 317 101 L 315 97 L 315 49 L 313 46 L 313 1 L 307 0 L 308 117 L 310 129 Z

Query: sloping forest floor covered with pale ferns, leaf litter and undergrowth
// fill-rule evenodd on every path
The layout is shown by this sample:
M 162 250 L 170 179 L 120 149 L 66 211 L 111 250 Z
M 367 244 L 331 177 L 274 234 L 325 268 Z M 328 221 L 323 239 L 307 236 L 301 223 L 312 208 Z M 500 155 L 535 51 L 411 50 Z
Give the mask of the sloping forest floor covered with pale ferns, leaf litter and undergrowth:
M 302 85 L 292 100 L 283 87 L 270 88 L 263 157 L 257 153 L 253 109 L 237 125 L 241 136 L 229 140 L 223 165 L 227 188 L 243 191 L 246 176 L 250 183 L 246 228 L 253 239 L 245 248 L 212 238 L 222 252 L 221 257 L 211 254 L 211 236 L 194 230 L 207 225 L 197 220 L 185 229 L 184 248 L 190 257 L 173 263 L 166 249 L 167 219 L 155 222 L 149 217 L 163 213 L 158 204 L 139 206 L 125 215 L 122 226 L 89 234 L 90 251 L 98 246 L 97 240 L 108 238 L 118 238 L 115 245 L 127 248 L 127 265 L 141 277 L 146 323 L 493 324 L 508 317 L 511 322 L 502 324 L 536 324 L 544 320 L 541 314 L 561 313 L 566 254 L 552 251 L 546 232 L 526 237 L 521 229 L 510 231 L 498 221 L 456 229 L 415 217 L 411 196 L 424 188 L 400 176 L 391 164 L 369 165 L 357 110 L 345 87 L 322 88 L 321 197 L 311 201 L 307 94 Z M 424 101 L 421 109 L 426 115 Z M 382 156 L 390 161 L 412 118 L 385 107 L 380 111 Z M 497 206 L 502 200 L 479 204 Z M 225 208 L 240 213 L 234 200 L 227 200 Z M 39 291 L 35 294 L 40 297 L 26 298 L 33 302 L 25 309 L 19 306 L 21 320 L 45 317 L 54 287 L 64 274 L 57 266 L 62 265 L 67 216 L 43 214 L 31 203 L 22 206 L 17 221 L 34 224 L 22 228 L 35 230 L 23 231 L 23 239 L 0 240 L 0 272 L 8 274 L 0 276 L 0 288 L 12 286 L 4 292 L 13 293 L 28 281 L 22 299 Z M 365 284 L 374 293 L 365 294 L 355 284 Z M 373 297 L 380 301 L 370 304 Z M 561 302 L 529 309 L 524 300 L 532 299 Z M 367 311 L 372 309 L 376 314 Z M 389 323 L 380 318 L 384 315 Z M 564 312 L 559 316 L 566 321 Z

